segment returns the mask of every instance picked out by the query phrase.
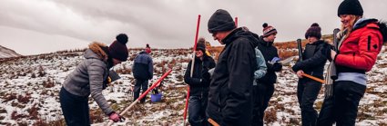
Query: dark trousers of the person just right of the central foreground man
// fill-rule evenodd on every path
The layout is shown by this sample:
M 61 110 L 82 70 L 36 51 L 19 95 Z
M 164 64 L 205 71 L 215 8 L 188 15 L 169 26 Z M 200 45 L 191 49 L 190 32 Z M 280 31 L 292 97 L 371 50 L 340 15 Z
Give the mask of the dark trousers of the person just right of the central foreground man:
M 274 93 L 274 83 L 258 83 L 253 86 L 253 110 L 252 124 L 253 126 L 263 126 L 263 117 L 265 110 L 269 106 L 270 98 Z

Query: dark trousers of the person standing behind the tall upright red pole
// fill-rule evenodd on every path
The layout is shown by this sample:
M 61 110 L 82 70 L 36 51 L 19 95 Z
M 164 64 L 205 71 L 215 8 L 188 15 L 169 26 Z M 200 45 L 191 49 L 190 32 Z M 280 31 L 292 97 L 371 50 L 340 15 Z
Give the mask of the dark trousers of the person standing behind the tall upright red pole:
M 191 126 L 205 126 L 207 124 L 207 101 L 207 96 L 189 96 L 188 121 Z

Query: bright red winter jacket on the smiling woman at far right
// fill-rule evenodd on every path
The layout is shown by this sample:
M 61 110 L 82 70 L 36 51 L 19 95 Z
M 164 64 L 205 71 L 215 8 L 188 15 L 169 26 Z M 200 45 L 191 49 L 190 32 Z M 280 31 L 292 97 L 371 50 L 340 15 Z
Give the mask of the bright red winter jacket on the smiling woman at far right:
M 344 38 L 335 58 L 338 66 L 369 72 L 382 50 L 382 34 L 376 19 L 355 24 L 351 34 Z M 350 70 L 351 72 L 351 70 Z

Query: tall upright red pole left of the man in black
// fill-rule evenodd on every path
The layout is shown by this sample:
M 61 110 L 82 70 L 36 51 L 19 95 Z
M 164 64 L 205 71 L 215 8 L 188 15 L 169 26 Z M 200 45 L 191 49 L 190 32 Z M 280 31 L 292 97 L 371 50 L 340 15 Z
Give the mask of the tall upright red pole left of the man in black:
M 193 53 L 192 53 L 192 63 L 191 63 L 191 73 L 190 73 L 190 77 L 192 77 L 192 74 L 193 74 L 193 68 L 194 68 L 194 65 L 195 65 L 195 53 L 196 53 L 196 46 L 198 44 L 198 35 L 199 35 L 199 25 L 200 25 L 200 15 L 198 15 L 198 23 L 197 23 L 197 26 L 196 26 L 196 35 L 195 35 L 195 44 L 194 44 L 194 48 L 193 48 Z M 189 101 L 189 85 L 187 86 L 187 97 L 186 97 L 186 106 L 184 108 L 184 121 L 183 121 L 183 124 L 184 126 L 186 125 L 186 119 L 187 119 L 187 109 L 188 109 L 188 101 Z

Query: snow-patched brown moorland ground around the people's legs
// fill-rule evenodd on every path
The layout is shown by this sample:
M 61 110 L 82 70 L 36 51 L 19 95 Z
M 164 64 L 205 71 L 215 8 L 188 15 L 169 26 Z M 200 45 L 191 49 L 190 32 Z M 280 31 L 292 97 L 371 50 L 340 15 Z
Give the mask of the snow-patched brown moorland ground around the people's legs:
M 385 48 L 385 47 L 384 47 Z M 138 50 L 130 50 L 129 61 L 115 70 L 121 79 L 103 93 L 117 111 L 133 101 L 132 60 Z M 117 125 L 182 125 L 186 84 L 183 74 L 190 59 L 188 49 L 152 52 L 155 76 L 152 82 L 172 68 L 163 82 L 161 102 L 138 103 L 125 114 L 127 120 Z M 0 64 L 0 125 L 63 125 L 58 102 L 61 83 L 83 59 L 82 52 L 49 53 L 15 59 Z M 268 125 L 300 125 L 300 108 L 296 97 L 297 77 L 290 63 L 278 73 L 276 91 L 271 98 L 265 121 Z M 387 51 L 382 50 L 372 72 L 367 73 L 368 87 L 359 107 L 357 125 L 387 125 Z M 315 106 L 321 108 L 323 90 Z M 89 101 L 93 125 L 103 125 L 107 117 L 97 103 Z

